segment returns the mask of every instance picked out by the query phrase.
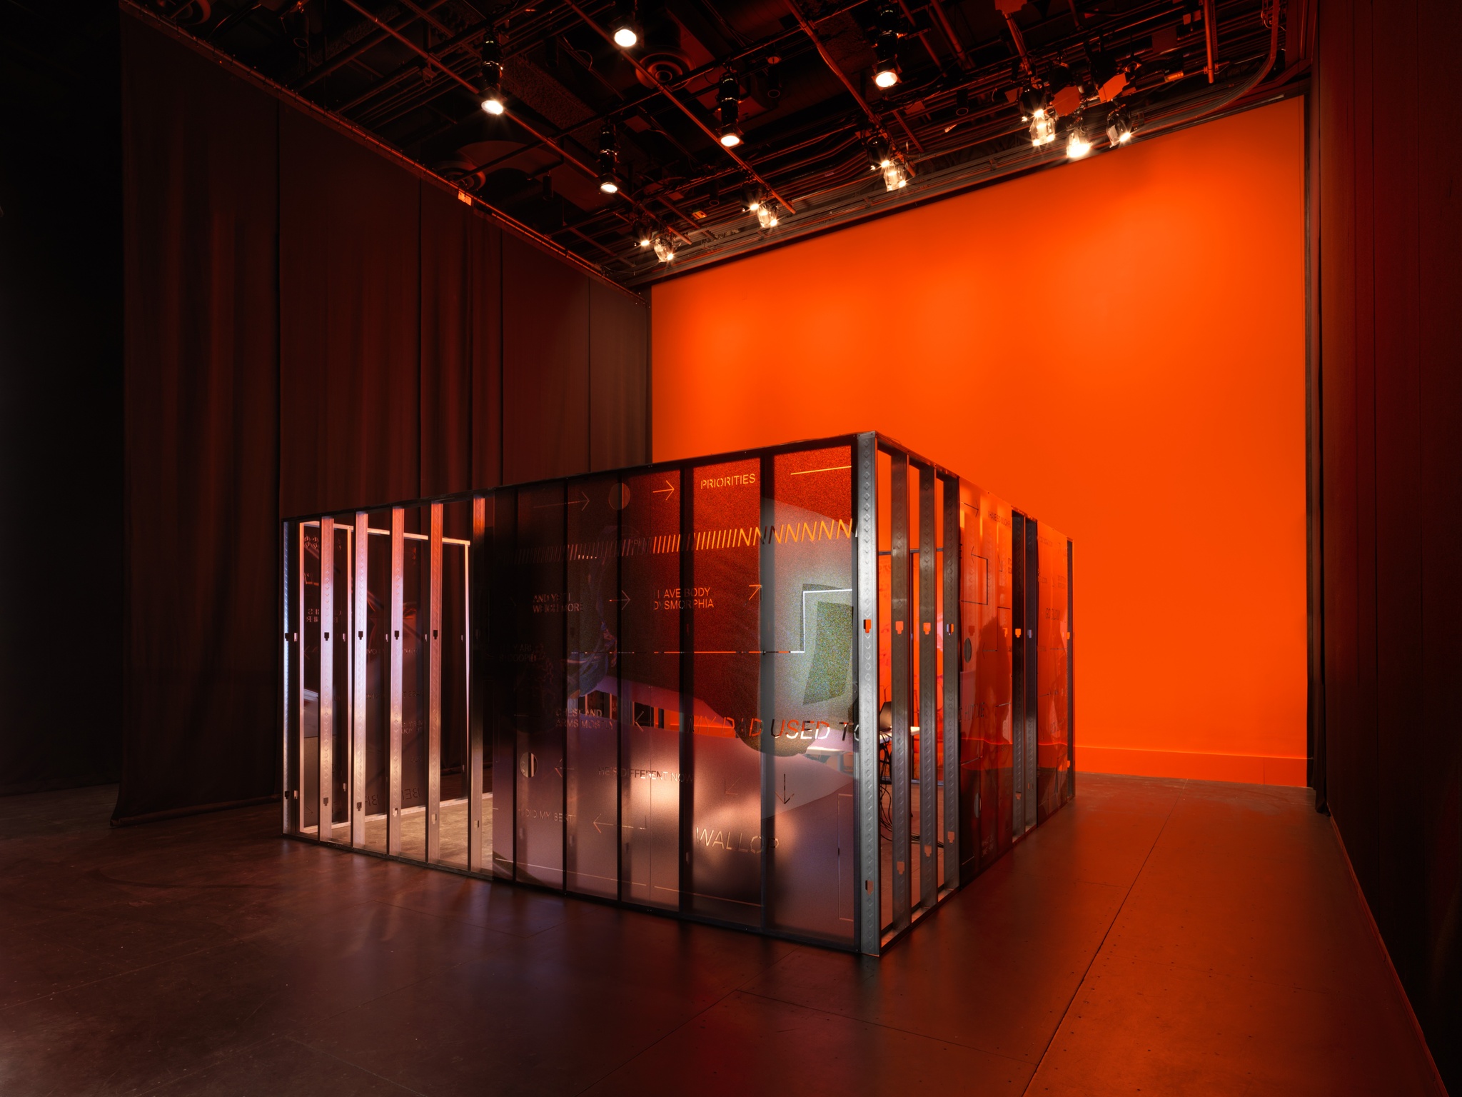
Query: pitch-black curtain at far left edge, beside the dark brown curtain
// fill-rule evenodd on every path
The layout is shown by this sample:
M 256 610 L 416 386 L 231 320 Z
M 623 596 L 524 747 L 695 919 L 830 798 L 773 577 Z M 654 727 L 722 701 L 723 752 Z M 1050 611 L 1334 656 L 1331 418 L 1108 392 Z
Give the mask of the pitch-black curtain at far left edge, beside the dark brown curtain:
M 0 796 L 121 766 L 117 35 L 0 4 Z

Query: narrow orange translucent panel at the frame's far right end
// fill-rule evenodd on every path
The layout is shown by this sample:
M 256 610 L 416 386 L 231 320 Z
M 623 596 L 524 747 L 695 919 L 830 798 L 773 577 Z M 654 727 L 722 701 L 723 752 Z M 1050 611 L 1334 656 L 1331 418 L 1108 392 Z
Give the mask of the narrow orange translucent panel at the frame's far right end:
M 1037 532 L 1037 806 L 1045 819 L 1072 797 L 1069 752 L 1070 600 L 1067 540 L 1042 522 Z

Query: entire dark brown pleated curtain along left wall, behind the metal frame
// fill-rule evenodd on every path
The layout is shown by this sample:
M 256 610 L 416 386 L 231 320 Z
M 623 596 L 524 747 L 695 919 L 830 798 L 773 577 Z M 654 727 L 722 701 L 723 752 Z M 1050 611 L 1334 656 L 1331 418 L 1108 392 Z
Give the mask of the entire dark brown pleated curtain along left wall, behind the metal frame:
M 639 298 L 123 22 L 118 822 L 278 793 L 282 518 L 649 459 Z

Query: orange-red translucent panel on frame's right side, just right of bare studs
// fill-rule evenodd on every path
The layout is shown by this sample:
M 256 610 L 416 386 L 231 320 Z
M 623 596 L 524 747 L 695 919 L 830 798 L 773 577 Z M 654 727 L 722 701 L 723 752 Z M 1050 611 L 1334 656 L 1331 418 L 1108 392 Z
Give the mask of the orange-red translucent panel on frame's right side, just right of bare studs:
M 961 878 L 1010 848 L 1013 666 L 1010 508 L 961 484 Z

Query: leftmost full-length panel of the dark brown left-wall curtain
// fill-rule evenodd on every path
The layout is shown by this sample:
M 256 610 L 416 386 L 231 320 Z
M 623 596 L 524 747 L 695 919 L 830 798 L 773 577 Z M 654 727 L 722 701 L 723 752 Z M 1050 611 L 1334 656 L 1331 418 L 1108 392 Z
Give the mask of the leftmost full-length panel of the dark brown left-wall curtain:
M 275 101 L 121 32 L 127 819 L 275 785 L 279 295 Z

